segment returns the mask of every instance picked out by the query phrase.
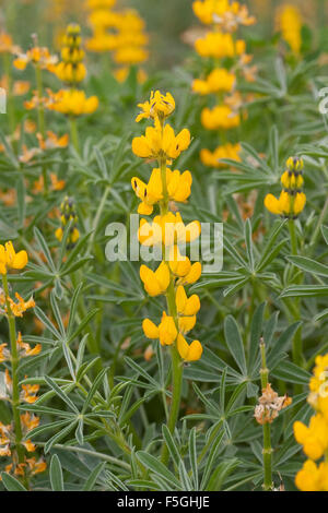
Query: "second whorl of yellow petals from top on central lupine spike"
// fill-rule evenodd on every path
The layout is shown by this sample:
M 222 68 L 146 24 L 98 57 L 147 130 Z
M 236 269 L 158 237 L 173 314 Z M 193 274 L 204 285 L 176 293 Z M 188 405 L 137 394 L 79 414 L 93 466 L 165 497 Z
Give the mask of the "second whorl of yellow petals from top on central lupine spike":
M 145 135 L 134 138 L 132 141 L 132 152 L 142 158 L 160 158 L 166 155 L 167 158 L 177 158 L 181 152 L 190 144 L 190 132 L 183 129 L 175 135 L 173 128 L 165 124 L 163 131 L 159 123 L 155 127 L 148 127 Z

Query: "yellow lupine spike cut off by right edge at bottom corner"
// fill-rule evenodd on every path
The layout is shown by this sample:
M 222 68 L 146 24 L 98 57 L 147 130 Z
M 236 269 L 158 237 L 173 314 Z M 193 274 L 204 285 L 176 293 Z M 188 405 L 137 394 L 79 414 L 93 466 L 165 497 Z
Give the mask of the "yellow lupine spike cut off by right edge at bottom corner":
M 307 401 L 315 415 L 308 426 L 294 422 L 295 439 L 308 458 L 295 482 L 302 491 L 328 491 L 328 355 L 317 356 L 309 391 Z

